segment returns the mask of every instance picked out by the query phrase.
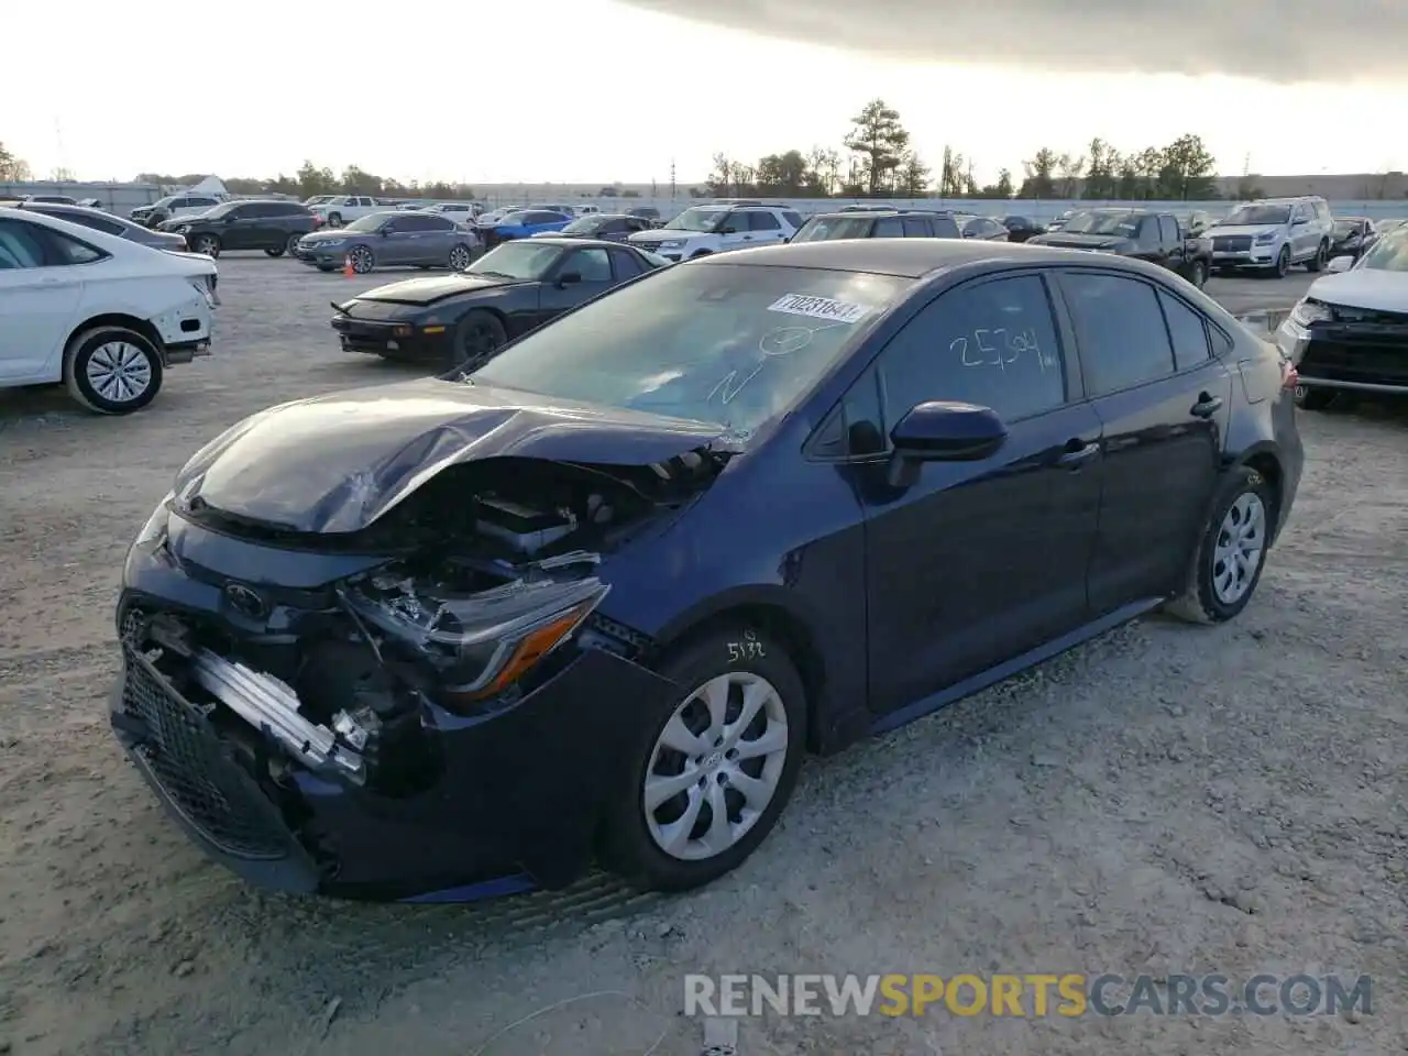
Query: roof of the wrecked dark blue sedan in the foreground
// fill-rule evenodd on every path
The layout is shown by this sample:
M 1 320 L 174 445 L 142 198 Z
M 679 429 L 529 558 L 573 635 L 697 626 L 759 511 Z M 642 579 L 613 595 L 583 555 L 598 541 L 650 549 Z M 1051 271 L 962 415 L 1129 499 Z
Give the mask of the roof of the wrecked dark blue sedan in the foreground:
M 1124 258 L 1100 258 L 1101 266 Z M 787 242 L 783 245 L 735 249 L 691 260 L 694 265 L 749 265 L 763 268 L 818 268 L 832 272 L 870 272 L 901 279 L 922 279 L 941 268 L 967 263 L 1084 263 L 1086 249 L 1057 249 L 1025 242 L 962 241 L 957 238 L 860 238 L 829 242 Z

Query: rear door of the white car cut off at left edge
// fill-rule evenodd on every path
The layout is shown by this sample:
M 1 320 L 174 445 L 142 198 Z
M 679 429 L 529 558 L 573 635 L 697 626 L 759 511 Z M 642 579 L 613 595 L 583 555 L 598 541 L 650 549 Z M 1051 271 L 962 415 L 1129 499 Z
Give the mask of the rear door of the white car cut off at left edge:
M 0 220 L 0 382 L 58 380 L 83 266 L 104 253 L 24 220 Z

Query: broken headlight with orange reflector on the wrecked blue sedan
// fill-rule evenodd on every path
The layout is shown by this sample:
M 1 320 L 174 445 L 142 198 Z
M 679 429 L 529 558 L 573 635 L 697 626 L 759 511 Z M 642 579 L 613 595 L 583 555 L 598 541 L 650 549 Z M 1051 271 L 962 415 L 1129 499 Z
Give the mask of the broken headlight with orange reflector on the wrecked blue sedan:
M 566 643 L 610 590 L 596 576 L 558 577 L 542 566 L 484 590 L 393 566 L 348 582 L 339 594 L 434 669 L 446 704 L 472 707 Z

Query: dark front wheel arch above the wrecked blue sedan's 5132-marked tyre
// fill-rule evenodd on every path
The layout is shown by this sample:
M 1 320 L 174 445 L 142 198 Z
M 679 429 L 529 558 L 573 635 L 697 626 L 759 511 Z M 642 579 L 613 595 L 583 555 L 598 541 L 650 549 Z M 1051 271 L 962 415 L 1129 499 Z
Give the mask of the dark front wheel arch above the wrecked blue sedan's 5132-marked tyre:
M 826 659 L 814 620 L 794 604 L 783 587 L 738 587 L 674 618 L 655 636 L 656 656 L 681 648 L 729 625 L 750 625 L 777 638 L 801 677 L 807 694 L 807 750 L 824 752 L 826 742 Z

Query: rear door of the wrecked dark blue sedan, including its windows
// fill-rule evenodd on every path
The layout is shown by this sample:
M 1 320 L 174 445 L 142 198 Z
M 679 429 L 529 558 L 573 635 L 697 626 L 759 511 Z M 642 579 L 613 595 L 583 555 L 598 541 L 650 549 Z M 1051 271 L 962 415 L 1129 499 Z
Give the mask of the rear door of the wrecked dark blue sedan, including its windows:
M 1090 569 L 1102 615 L 1181 584 L 1218 482 L 1232 376 L 1209 353 L 1205 317 L 1162 283 L 1069 268 L 1059 287 L 1104 434 Z

